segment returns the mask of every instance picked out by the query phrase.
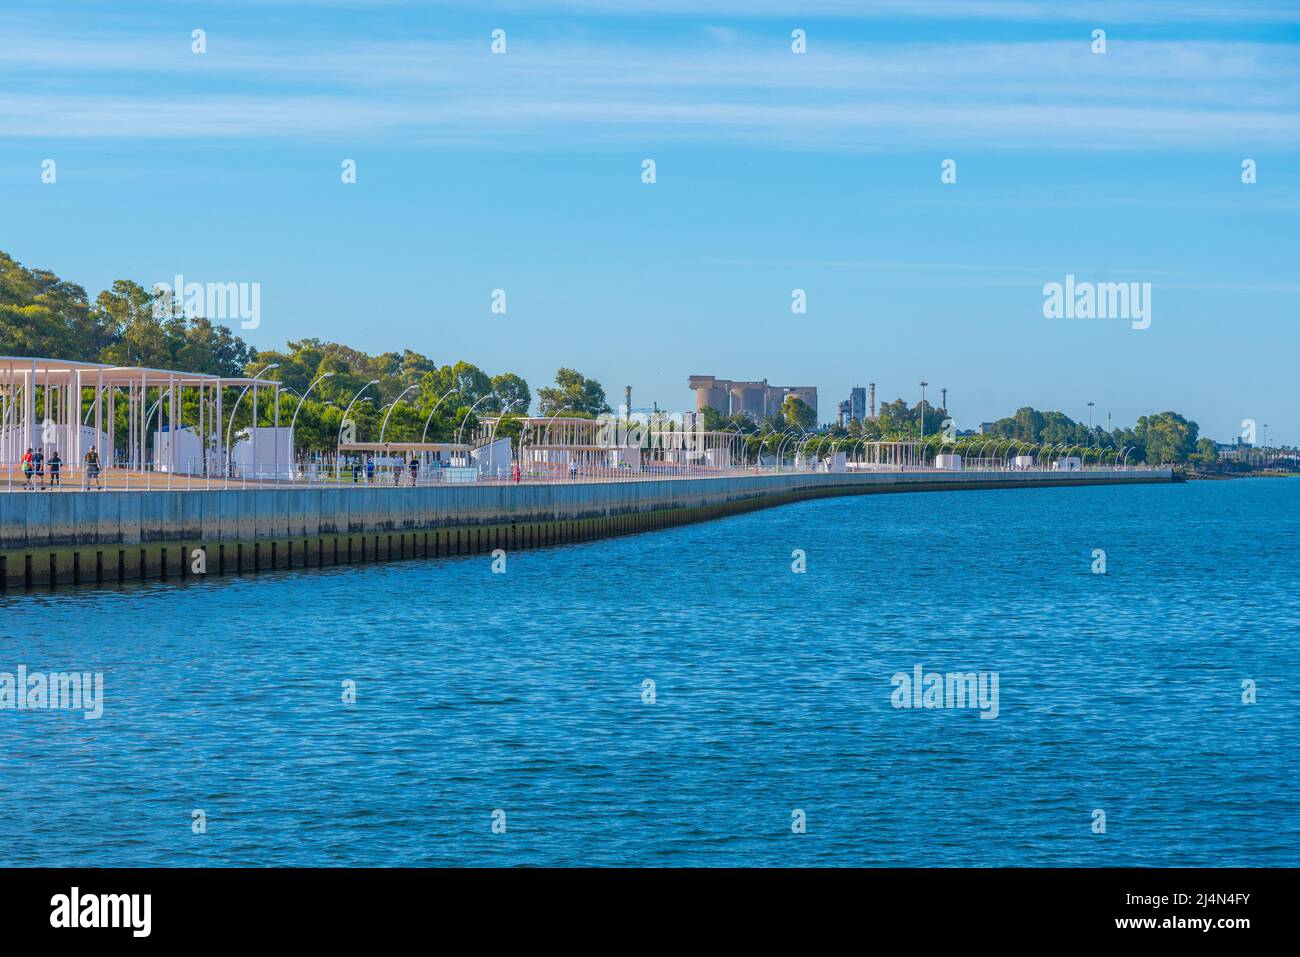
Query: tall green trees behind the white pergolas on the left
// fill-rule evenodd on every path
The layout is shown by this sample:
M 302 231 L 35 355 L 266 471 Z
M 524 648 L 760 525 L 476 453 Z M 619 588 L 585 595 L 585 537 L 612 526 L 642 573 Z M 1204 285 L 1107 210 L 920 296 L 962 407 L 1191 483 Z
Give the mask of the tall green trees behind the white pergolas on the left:
M 534 402 L 528 382 L 514 372 L 491 374 L 468 361 L 439 365 L 412 350 L 369 355 L 316 338 L 257 350 L 225 325 L 157 303 L 153 291 L 131 280 L 117 280 L 91 299 L 48 269 L 26 268 L 0 252 L 0 354 L 228 377 L 251 377 L 276 365 L 261 380 L 282 385 L 281 425 L 298 412 L 298 451 L 333 451 L 348 406 L 360 441 L 377 441 L 386 417 L 385 441 L 446 442 L 471 436 L 480 413 L 507 411 L 498 434 L 515 434 L 517 419 Z M 554 385 L 537 389 L 536 399 L 541 415 L 594 417 L 610 411 L 601 384 L 569 368 L 556 372 Z M 196 398 L 186 395 L 183 402 L 183 420 L 196 421 Z M 84 403 L 83 411 L 88 397 Z M 120 404 L 124 434 L 125 416 Z M 240 403 L 234 428 L 250 425 L 251 416 L 251 403 Z M 270 425 L 272 416 L 261 403 L 257 424 Z

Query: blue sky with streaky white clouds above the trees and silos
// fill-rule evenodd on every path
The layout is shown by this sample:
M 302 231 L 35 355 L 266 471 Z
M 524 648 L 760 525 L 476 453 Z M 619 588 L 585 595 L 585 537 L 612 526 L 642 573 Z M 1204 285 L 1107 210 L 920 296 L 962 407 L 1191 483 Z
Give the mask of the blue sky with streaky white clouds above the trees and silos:
M 92 295 L 259 282 L 264 348 L 573 365 L 634 406 L 766 377 L 827 420 L 924 378 L 959 428 L 1091 399 L 1300 443 L 1300 5 L 1226 7 L 10 7 L 0 248 Z M 1044 319 L 1067 273 L 1150 282 L 1150 328 Z

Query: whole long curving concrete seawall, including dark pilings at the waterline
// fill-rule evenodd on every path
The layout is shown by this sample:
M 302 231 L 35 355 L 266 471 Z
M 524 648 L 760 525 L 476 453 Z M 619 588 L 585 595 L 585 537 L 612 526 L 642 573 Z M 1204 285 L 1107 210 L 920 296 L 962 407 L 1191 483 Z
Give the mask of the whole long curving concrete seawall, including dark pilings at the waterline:
M 0 585 L 187 579 L 585 541 L 827 495 L 1173 481 L 1170 469 L 0 495 Z

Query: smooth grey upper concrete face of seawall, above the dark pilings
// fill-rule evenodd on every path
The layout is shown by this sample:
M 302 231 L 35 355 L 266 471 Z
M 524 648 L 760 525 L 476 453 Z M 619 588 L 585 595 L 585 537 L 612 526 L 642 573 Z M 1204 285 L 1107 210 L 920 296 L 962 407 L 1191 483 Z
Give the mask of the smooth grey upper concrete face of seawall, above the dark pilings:
M 580 484 L 16 492 L 0 494 L 0 551 L 311 538 L 608 518 L 725 503 L 942 489 L 1173 481 L 1170 469 L 783 473 Z

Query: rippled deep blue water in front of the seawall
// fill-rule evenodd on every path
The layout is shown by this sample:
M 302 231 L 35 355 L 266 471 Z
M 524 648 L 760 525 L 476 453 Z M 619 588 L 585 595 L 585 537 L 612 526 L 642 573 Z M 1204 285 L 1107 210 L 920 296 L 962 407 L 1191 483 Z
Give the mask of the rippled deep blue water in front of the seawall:
M 0 711 L 0 863 L 1297 865 L 1297 542 L 1300 481 L 958 492 L 9 596 L 105 711 Z

